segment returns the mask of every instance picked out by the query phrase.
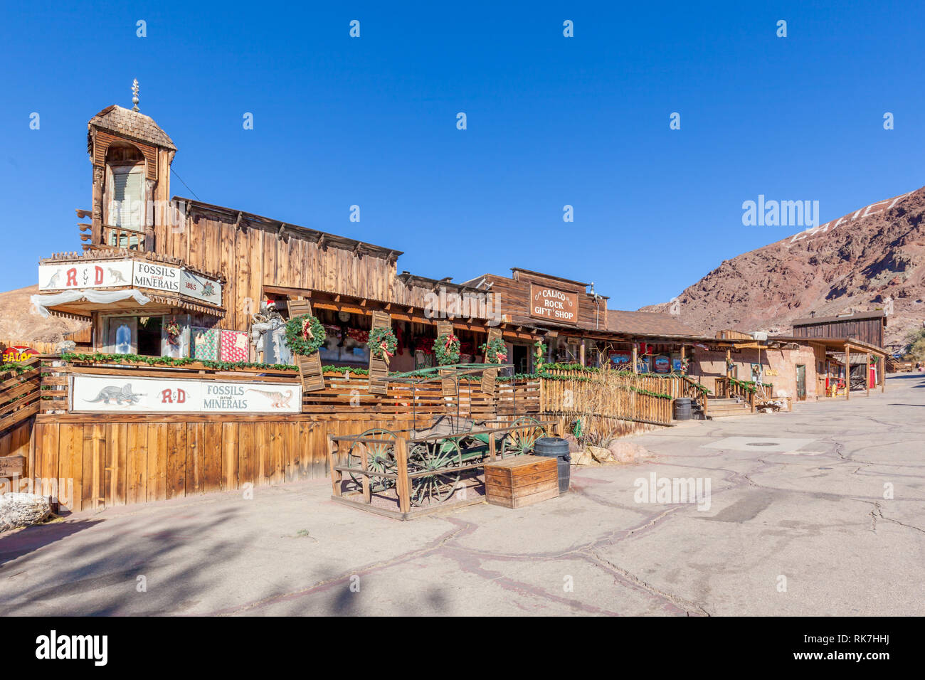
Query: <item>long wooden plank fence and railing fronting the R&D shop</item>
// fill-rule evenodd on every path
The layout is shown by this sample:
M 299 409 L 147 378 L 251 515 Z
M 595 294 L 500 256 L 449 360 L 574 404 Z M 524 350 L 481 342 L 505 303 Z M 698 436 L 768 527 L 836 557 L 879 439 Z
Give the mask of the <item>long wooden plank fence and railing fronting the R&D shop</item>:
M 14 397 L 28 393 L 31 401 L 14 412 L 29 408 L 31 414 L 20 421 L 26 429 L 10 432 L 6 444 L 6 451 L 24 457 L 23 479 L 0 492 L 31 484 L 72 511 L 321 478 L 328 474 L 328 437 L 424 427 L 441 414 L 476 421 L 548 414 L 563 424 L 574 414 L 593 414 L 587 426 L 601 430 L 613 421 L 671 421 L 672 400 L 646 393 L 664 395 L 661 390 L 669 389 L 664 377 L 654 376 L 626 379 L 602 400 L 586 374 L 499 381 L 494 394 L 483 393 L 476 380 L 461 380 L 458 392 L 450 394 L 438 380 L 389 381 L 385 394 L 371 394 L 365 376 L 329 371 L 325 389 L 305 393 L 298 414 L 80 414 L 68 413 L 68 385 L 75 375 L 261 380 L 280 388 L 299 377 L 282 369 L 64 362 L 57 356 L 43 356 L 27 369 L 16 384 L 3 383 L 7 390 L 30 384 Z M 566 399 L 566 389 L 577 402 Z

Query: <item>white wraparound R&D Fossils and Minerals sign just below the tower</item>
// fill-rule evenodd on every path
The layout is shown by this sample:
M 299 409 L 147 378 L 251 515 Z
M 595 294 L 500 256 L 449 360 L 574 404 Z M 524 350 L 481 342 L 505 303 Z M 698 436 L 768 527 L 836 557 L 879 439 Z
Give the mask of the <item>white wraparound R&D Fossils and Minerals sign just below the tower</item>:
M 141 260 L 63 262 L 39 266 L 40 291 L 129 286 L 179 293 L 205 303 L 222 303 L 222 287 L 218 281 L 195 275 L 179 266 Z

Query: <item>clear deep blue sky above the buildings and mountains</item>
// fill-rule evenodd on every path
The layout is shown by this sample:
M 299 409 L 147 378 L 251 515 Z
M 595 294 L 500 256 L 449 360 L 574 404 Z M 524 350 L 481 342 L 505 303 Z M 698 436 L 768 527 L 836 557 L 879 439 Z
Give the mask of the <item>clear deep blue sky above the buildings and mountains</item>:
M 8 4 L 0 289 L 79 249 L 87 120 L 138 78 L 204 202 L 424 276 L 520 266 L 664 302 L 799 230 L 743 227 L 759 193 L 825 222 L 925 184 L 923 26 L 925 4 L 884 2 Z

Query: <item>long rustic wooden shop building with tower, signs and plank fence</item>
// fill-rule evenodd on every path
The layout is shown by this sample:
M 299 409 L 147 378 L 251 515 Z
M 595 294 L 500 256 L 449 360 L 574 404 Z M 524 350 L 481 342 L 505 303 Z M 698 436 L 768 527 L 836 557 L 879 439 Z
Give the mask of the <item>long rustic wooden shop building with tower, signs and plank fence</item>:
M 606 416 L 667 425 L 672 398 L 706 399 L 688 363 L 760 344 L 706 338 L 672 315 L 609 310 L 593 285 L 569 278 L 518 267 L 462 283 L 425 278 L 400 271 L 402 253 L 387 246 L 171 197 L 177 151 L 137 110 L 91 118 L 80 249 L 40 261 L 32 303 L 88 320 L 93 352 L 0 380 L 0 426 L 16 426 L 9 438 L 0 427 L 0 458 L 4 446 L 28 451 L 36 483 L 72 480 L 68 509 L 325 476 L 329 438 L 420 426 L 453 403 L 473 418 L 544 408 L 567 418 L 549 405 L 563 383 L 520 375 L 534 373 L 543 346 L 546 363 L 656 374 L 622 376 L 623 401 Z M 308 309 L 326 334 L 314 385 L 295 372 L 301 358 L 284 337 L 286 319 Z M 438 384 L 422 395 L 400 380 L 376 390 L 374 372 L 359 370 L 372 365 L 374 324 L 398 340 L 388 371 L 435 365 L 442 327 L 460 340 L 462 363 L 484 361 L 497 334 L 518 375 L 484 391 Z

